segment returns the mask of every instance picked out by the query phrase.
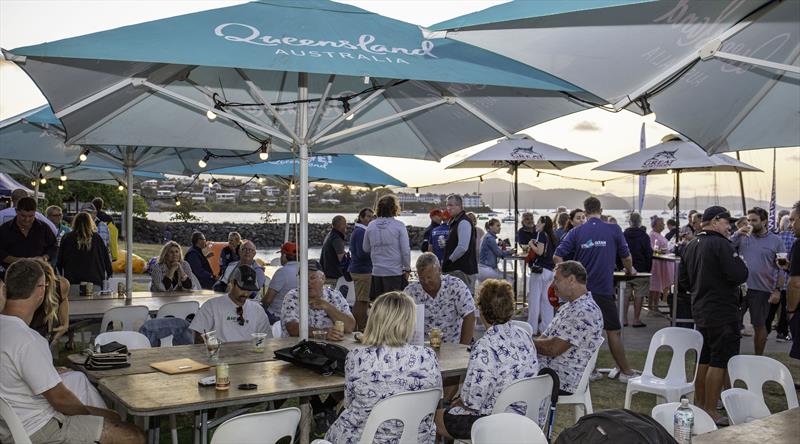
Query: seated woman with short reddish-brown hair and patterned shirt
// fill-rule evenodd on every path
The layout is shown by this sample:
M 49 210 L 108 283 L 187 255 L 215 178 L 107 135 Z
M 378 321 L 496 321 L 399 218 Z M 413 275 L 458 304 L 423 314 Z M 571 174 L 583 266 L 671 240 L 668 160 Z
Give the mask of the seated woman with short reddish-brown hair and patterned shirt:
M 514 314 L 514 290 L 505 280 L 488 279 L 481 285 L 478 308 L 486 333 L 472 346 L 461 395 L 448 409 L 436 412 L 436 431 L 448 439 L 469 439 L 472 424 L 490 415 L 495 400 L 510 383 L 536 376 L 536 347 L 525 330 L 509 323 Z M 525 406 L 509 409 L 524 414 Z

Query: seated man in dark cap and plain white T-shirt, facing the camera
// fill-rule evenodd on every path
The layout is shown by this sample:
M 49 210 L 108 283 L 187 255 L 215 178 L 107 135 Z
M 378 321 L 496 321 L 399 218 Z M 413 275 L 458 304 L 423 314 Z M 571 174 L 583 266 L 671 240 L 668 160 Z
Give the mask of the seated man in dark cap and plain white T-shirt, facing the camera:
M 264 309 L 250 299 L 251 292 L 258 289 L 257 276 L 253 267 L 239 265 L 231 274 L 228 294 L 203 303 L 189 325 L 189 329 L 197 333 L 198 343 L 202 343 L 202 333 L 212 330 L 222 342 L 249 341 L 252 333 L 266 333 L 267 337 L 272 337 Z

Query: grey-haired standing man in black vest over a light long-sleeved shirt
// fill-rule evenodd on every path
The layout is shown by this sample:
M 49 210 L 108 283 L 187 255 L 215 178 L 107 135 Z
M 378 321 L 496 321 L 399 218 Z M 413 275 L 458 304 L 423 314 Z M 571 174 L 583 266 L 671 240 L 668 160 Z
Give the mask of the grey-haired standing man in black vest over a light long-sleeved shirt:
M 442 270 L 464 281 L 470 293 L 474 291 L 478 276 L 478 253 L 475 249 L 477 231 L 464 211 L 461 196 L 447 196 L 447 212 L 450 213 L 450 231 L 444 247 Z

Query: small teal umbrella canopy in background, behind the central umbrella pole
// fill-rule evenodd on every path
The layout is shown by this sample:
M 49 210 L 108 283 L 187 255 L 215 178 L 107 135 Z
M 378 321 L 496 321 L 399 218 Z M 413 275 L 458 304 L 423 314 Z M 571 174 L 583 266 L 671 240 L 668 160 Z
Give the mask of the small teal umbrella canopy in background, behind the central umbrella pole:
M 222 168 L 209 171 L 209 173 L 230 176 L 258 175 L 291 178 L 297 176 L 299 167 L 300 162 L 297 159 L 287 159 Z M 384 173 L 372 166 L 372 164 L 348 154 L 309 158 L 308 179 L 313 182 L 329 182 L 370 188 L 375 186 L 406 186 L 405 183 Z

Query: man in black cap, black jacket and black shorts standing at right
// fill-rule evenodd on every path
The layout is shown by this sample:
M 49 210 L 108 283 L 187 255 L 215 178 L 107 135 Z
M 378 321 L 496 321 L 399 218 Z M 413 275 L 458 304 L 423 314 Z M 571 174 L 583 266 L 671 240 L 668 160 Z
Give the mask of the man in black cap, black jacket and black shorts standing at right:
M 739 285 L 747 280 L 747 266 L 728 240 L 735 219 L 724 207 L 702 214 L 702 230 L 686 245 L 679 266 L 679 282 L 692 295 L 692 317 L 703 335 L 695 378 L 695 404 L 717 425 L 727 418 L 717 411 L 728 361 L 739 354 Z

